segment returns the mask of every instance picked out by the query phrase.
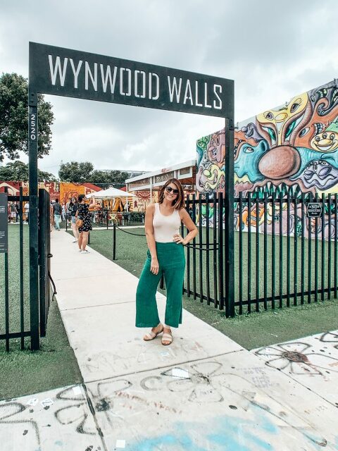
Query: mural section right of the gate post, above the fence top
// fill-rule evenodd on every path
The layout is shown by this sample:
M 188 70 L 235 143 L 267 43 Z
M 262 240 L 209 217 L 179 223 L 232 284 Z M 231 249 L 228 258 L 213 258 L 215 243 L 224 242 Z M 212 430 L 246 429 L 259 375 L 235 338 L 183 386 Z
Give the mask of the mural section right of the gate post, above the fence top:
M 239 125 L 235 192 L 338 192 L 338 81 Z

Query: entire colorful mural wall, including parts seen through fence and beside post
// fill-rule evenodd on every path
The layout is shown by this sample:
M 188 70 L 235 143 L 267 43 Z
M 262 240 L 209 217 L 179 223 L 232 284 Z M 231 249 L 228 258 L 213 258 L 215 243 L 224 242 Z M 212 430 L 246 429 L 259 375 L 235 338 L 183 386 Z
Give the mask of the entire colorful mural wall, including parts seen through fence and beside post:
M 223 129 L 196 143 L 198 195 L 210 196 L 224 189 L 224 142 Z M 243 197 L 251 192 L 253 199 L 273 194 L 280 197 L 289 193 L 291 197 L 300 197 L 301 193 L 321 196 L 338 192 L 338 80 L 296 95 L 284 106 L 239 123 L 234 132 L 235 197 L 239 192 Z M 248 206 L 244 206 L 242 224 L 239 224 L 239 206 L 236 208 L 235 226 L 237 230 L 239 227 L 247 230 Z M 252 227 L 256 227 L 257 217 L 260 227 L 264 222 L 263 204 L 259 204 L 258 209 L 256 216 L 256 204 L 251 206 Z M 273 222 L 271 210 L 268 204 L 268 230 Z M 295 211 L 291 206 L 287 218 L 286 205 L 281 212 L 276 206 L 275 221 L 279 221 L 281 214 L 285 219 L 283 227 L 287 227 L 289 221 L 292 233 L 301 233 L 300 207 Z M 203 211 L 202 216 L 206 223 Z M 328 221 L 327 218 L 325 236 Z M 213 218 L 209 217 L 209 224 L 213 225 Z M 308 225 L 306 228 L 308 235 Z

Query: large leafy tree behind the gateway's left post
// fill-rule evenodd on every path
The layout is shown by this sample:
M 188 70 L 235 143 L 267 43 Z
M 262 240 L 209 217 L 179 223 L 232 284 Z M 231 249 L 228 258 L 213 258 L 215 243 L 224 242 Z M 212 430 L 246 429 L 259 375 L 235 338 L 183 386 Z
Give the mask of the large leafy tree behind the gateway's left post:
M 28 82 L 22 75 L 3 73 L 0 77 L 0 161 L 4 156 L 14 160 L 19 152 L 28 154 Z M 54 114 L 51 104 L 42 94 L 37 97 L 38 156 L 43 158 L 51 149 L 51 124 Z

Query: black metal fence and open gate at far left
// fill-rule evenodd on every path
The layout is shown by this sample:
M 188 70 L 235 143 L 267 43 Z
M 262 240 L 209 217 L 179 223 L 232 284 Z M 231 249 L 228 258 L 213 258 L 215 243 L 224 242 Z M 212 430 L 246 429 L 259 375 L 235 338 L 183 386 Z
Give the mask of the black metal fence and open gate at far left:
M 19 340 L 20 348 L 25 349 L 25 338 L 32 336 L 27 230 L 29 226 L 25 225 L 29 222 L 29 215 L 25 214 L 24 209 L 24 205 L 29 201 L 29 196 L 23 196 L 22 187 L 19 196 L 8 195 L 8 202 L 15 202 L 18 215 L 15 218 L 17 225 L 11 226 L 8 253 L 4 254 L 4 273 L 0 272 L 0 340 L 5 341 L 6 351 L 10 350 L 10 341 L 13 339 Z M 39 336 L 46 334 L 51 299 L 49 205 L 49 193 L 39 190 L 39 299 L 35 299 L 35 302 L 39 303 Z

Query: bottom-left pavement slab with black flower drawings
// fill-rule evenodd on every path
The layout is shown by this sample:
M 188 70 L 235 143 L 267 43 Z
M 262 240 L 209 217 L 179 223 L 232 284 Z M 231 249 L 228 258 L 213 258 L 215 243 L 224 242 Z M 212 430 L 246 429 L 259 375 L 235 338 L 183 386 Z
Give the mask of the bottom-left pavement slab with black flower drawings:
M 34 407 L 28 397 L 0 402 L 0 442 L 8 443 L 8 448 L 1 445 L 1 450 L 69 451 L 71 437 L 76 449 L 103 450 L 84 387 L 70 386 L 35 397 Z M 46 399 L 52 401 L 49 409 L 44 407 Z M 13 433 L 9 441 L 8 431 Z

